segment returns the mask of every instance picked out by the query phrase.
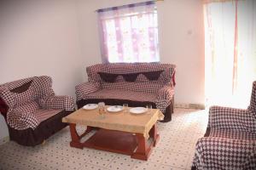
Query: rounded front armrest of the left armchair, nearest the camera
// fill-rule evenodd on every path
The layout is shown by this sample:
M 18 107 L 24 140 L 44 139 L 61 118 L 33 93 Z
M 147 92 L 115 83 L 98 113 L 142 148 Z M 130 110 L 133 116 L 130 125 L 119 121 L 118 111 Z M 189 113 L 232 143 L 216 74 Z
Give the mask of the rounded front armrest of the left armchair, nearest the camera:
M 7 122 L 10 127 L 16 130 L 24 130 L 30 127 L 35 129 L 40 123 L 34 114 L 26 111 L 9 111 Z

